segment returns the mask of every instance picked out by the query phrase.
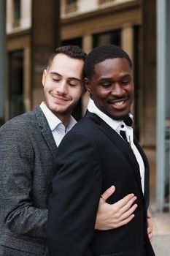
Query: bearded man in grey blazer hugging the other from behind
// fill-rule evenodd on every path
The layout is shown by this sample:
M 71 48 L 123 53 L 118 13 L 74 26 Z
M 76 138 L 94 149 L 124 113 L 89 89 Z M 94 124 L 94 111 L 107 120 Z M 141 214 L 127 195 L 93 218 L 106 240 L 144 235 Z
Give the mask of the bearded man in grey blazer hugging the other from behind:
M 0 129 L 0 255 L 49 255 L 47 204 L 52 192 L 58 145 L 76 121 L 71 113 L 80 98 L 85 53 L 66 46 L 50 56 L 42 77 L 45 102 L 12 118 Z M 119 227 L 134 218 L 134 195 L 105 203 L 101 198 L 96 229 Z M 151 228 L 148 229 L 151 236 Z

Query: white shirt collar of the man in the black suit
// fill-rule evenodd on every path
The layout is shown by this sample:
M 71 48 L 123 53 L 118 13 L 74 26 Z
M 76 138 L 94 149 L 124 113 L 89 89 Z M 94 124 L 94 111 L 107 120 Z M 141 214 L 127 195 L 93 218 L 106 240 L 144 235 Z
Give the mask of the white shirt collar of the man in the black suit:
M 99 116 L 102 120 L 104 120 L 112 129 L 119 130 L 121 124 L 124 124 L 123 120 L 115 120 L 111 117 L 107 116 L 105 113 L 103 113 L 101 110 L 99 110 L 95 103 L 93 102 L 93 99 L 89 99 L 88 102 L 88 111 L 90 113 L 95 113 L 97 116 Z M 129 113 L 129 116 L 133 118 L 133 116 Z

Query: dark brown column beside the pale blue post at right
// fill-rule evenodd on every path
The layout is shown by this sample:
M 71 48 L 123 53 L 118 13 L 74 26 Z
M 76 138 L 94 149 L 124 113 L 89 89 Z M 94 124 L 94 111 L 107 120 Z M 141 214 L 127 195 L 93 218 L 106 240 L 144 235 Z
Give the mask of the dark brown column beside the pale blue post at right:
M 156 141 L 156 3 L 143 0 L 143 126 L 142 144 L 155 147 Z

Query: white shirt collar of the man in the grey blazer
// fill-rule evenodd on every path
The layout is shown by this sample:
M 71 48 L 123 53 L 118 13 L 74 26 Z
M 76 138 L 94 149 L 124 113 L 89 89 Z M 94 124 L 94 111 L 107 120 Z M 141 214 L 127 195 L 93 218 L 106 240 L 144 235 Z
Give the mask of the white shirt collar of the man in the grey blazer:
M 49 108 L 47 108 L 45 102 L 41 103 L 40 108 L 42 109 L 42 112 L 45 114 L 50 129 L 53 132 L 53 130 L 56 127 L 58 127 L 59 124 L 62 124 L 61 120 L 57 116 L 55 116 L 55 114 Z M 69 130 L 72 129 L 72 127 L 74 127 L 74 124 L 76 123 L 77 121 L 71 116 L 69 125 L 66 127 L 67 132 L 69 132 Z

